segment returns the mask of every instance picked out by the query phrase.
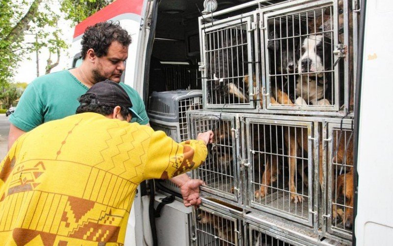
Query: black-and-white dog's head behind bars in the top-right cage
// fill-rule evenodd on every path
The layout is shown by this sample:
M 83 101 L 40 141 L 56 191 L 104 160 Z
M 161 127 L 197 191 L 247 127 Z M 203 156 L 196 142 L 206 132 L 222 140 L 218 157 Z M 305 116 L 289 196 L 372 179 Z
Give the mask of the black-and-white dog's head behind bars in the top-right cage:
M 332 41 L 322 35 L 309 35 L 298 49 L 299 60 L 297 64 L 299 73 L 317 73 L 328 70 L 332 65 Z

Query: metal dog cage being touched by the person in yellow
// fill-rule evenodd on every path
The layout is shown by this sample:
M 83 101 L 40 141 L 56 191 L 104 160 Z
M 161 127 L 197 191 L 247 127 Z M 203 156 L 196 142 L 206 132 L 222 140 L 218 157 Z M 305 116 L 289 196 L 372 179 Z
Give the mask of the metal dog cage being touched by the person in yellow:
M 241 182 L 239 163 L 238 133 L 235 115 L 218 112 L 190 112 L 191 137 L 207 130 L 214 132 L 213 144 L 209 145 L 207 159 L 194 172 L 201 186 L 201 194 L 226 199 L 231 204 L 241 204 Z

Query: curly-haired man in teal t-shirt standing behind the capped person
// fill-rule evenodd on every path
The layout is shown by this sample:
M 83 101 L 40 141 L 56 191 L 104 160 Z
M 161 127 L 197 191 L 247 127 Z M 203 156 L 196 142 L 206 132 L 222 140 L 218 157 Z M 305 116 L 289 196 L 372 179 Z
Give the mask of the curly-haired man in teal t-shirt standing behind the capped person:
M 101 22 L 88 27 L 82 37 L 83 61 L 79 67 L 41 76 L 28 85 L 9 119 L 8 149 L 19 136 L 38 125 L 74 115 L 79 106 L 78 97 L 106 79 L 119 83 L 129 95 L 133 110 L 141 118 L 132 122 L 148 125 L 149 119 L 140 95 L 120 82 L 130 43 L 131 36 L 119 24 Z M 198 187 L 202 184 L 201 180 L 191 180 L 183 174 L 171 181 L 180 187 L 186 206 L 200 204 Z

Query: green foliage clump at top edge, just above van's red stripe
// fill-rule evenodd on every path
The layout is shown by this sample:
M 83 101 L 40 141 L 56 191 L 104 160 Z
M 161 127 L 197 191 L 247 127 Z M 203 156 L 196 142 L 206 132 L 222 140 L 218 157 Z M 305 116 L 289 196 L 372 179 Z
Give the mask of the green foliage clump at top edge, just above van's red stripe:
M 71 20 L 73 24 L 77 24 L 107 6 L 112 1 L 113 0 L 63 0 L 60 10 L 66 14 L 66 20 Z

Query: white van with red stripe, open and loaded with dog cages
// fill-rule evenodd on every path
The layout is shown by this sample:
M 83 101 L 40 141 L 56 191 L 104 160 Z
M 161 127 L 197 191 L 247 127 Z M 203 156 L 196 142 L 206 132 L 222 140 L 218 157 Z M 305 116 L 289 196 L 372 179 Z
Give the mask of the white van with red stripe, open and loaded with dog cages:
M 125 245 L 392 245 L 392 13 L 389 0 L 116 0 L 78 24 L 73 67 L 85 28 L 118 21 L 133 39 L 121 80 L 151 126 L 216 134 L 193 173 L 202 205 L 140 185 Z

